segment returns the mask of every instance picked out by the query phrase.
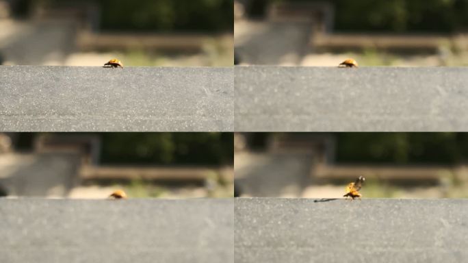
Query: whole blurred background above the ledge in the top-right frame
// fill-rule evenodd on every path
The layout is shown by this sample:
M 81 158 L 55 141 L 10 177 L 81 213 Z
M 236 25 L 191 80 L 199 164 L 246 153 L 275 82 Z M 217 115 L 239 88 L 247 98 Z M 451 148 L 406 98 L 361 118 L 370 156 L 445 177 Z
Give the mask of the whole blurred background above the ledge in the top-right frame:
M 468 65 L 467 0 L 235 0 L 236 64 Z

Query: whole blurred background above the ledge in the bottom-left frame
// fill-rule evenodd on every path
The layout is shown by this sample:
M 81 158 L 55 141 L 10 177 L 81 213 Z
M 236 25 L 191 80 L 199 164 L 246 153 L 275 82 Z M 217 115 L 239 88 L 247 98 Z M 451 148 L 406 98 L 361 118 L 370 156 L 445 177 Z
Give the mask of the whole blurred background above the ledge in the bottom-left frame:
M 232 133 L 3 133 L 0 196 L 232 197 Z

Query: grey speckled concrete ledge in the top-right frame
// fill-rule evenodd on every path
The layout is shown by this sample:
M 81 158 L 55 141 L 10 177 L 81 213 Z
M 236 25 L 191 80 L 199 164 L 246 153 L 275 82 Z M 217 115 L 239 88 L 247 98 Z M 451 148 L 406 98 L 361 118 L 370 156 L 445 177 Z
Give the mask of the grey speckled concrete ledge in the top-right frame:
M 468 68 L 236 66 L 234 75 L 238 132 L 468 129 Z

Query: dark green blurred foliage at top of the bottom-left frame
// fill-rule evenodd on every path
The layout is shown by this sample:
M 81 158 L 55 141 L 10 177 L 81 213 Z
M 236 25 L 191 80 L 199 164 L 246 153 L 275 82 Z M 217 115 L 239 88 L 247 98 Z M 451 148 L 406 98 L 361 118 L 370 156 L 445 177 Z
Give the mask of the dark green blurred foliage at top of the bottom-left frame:
M 232 164 L 232 133 L 104 133 L 107 164 Z

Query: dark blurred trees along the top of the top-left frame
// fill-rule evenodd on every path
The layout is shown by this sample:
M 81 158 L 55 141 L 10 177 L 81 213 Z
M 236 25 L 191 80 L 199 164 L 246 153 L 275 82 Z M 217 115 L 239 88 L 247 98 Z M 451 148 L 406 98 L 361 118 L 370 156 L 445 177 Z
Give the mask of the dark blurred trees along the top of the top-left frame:
M 76 0 L 38 0 L 64 5 Z M 101 5 L 103 29 L 140 31 L 233 31 L 233 0 L 83 0 Z

